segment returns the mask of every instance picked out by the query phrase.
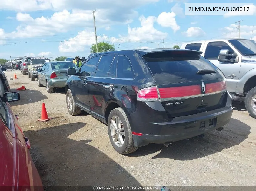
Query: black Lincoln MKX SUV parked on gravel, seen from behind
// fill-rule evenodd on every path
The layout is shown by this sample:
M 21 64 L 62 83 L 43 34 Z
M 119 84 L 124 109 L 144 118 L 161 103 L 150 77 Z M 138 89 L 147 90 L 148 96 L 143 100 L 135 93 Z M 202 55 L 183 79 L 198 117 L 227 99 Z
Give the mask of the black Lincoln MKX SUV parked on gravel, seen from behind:
M 108 125 L 111 144 L 128 154 L 149 143 L 221 131 L 233 112 L 223 73 L 202 52 L 145 49 L 98 53 L 65 84 L 68 112 Z

